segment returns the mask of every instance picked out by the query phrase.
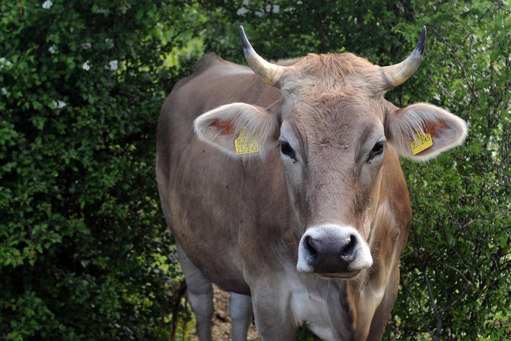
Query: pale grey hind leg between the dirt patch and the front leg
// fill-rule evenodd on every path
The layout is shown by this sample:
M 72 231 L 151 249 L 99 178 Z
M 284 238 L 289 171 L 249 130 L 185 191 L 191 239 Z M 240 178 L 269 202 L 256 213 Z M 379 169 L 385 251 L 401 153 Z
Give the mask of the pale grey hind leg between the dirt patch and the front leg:
M 230 293 L 229 313 L 233 341 L 245 341 L 252 321 L 252 299 L 239 293 Z

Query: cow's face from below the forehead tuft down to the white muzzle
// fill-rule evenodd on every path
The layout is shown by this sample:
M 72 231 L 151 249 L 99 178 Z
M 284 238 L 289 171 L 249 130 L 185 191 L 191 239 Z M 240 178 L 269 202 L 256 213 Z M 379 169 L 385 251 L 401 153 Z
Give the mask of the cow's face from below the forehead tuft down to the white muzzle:
M 278 143 L 302 233 L 299 271 L 350 278 L 373 263 L 367 240 L 387 148 L 380 102 L 327 95 L 282 120 Z

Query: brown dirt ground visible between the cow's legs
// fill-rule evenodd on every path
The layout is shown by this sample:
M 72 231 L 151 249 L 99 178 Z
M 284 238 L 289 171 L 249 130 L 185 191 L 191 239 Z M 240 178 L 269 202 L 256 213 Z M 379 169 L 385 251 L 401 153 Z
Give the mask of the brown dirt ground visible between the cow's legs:
M 229 341 L 230 340 L 230 316 L 229 316 L 229 293 L 220 290 L 213 285 L 215 297 L 213 299 L 215 305 L 215 314 L 211 321 L 213 340 Z M 195 328 L 190 331 L 190 340 L 199 341 Z M 252 321 L 248 328 L 247 340 L 260 340 L 261 337 Z

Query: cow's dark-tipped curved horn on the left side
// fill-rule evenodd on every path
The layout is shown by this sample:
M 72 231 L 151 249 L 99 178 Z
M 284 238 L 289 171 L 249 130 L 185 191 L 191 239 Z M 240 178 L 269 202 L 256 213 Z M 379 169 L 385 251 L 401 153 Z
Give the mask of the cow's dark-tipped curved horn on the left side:
M 245 54 L 245 59 L 248 62 L 248 65 L 252 69 L 252 71 L 261 77 L 266 83 L 280 88 L 281 78 L 284 74 L 284 71 L 288 68 L 288 66 L 281 66 L 267 62 L 257 53 L 255 53 L 254 49 L 250 45 L 250 42 L 245 35 L 245 30 L 243 30 L 243 26 L 240 26 L 240 35 L 241 35 L 241 43 L 243 44 L 243 53 Z

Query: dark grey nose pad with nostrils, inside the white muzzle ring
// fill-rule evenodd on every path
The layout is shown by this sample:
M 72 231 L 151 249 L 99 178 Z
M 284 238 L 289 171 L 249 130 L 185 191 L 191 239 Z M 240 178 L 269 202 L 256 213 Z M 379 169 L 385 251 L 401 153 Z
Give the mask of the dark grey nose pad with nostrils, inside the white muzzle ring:
M 342 238 L 314 239 L 305 236 L 304 256 L 314 272 L 344 272 L 355 260 L 357 237 L 353 234 Z

